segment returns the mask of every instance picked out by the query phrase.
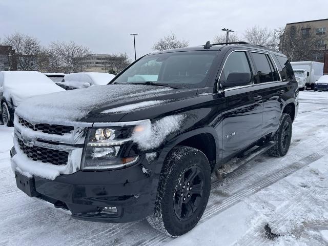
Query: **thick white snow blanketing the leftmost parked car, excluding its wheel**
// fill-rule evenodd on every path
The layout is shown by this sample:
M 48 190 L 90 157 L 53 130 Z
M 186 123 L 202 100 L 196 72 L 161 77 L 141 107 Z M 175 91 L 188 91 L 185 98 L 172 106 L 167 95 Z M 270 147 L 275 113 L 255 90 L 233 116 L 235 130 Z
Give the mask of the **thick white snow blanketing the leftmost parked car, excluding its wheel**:
M 4 97 L 8 101 L 12 99 L 14 106 L 33 96 L 65 91 L 40 72 L 4 71 L 0 72 L 0 80 L 3 81 Z

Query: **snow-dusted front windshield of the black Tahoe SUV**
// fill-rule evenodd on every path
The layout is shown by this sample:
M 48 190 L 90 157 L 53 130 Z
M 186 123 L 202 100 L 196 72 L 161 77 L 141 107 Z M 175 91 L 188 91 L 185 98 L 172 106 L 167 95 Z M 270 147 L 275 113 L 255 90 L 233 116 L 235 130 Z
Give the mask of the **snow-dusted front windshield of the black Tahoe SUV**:
M 217 52 L 187 51 L 148 55 L 138 60 L 114 80 L 115 84 L 172 85 L 196 88 L 205 86 Z

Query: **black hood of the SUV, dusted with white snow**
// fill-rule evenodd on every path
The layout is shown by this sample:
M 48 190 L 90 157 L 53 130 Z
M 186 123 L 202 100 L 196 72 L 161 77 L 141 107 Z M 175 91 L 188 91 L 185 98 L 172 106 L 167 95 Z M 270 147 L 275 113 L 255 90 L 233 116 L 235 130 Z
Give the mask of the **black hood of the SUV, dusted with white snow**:
M 32 122 L 59 125 L 115 122 L 128 111 L 195 96 L 196 92 L 196 89 L 145 85 L 97 86 L 29 98 L 16 109 L 16 114 Z

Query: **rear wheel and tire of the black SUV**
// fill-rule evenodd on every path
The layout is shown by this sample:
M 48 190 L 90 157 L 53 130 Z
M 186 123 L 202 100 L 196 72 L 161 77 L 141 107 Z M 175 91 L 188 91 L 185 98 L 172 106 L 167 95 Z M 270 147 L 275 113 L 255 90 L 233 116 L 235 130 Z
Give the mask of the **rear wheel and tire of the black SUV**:
M 281 157 L 287 154 L 292 139 L 292 127 L 291 116 L 282 113 L 279 128 L 273 137 L 276 144 L 267 151 L 269 155 Z

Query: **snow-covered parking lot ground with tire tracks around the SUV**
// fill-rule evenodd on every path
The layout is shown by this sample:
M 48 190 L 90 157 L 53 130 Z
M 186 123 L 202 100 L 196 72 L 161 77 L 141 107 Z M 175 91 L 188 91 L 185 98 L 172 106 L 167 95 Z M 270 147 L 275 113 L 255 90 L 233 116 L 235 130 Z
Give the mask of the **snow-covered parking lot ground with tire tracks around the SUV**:
M 0 126 L 0 245 L 327 245 L 328 92 L 303 91 L 299 101 L 288 154 L 213 176 L 200 223 L 175 239 L 146 220 L 79 221 L 32 200 L 10 168 L 13 128 Z

